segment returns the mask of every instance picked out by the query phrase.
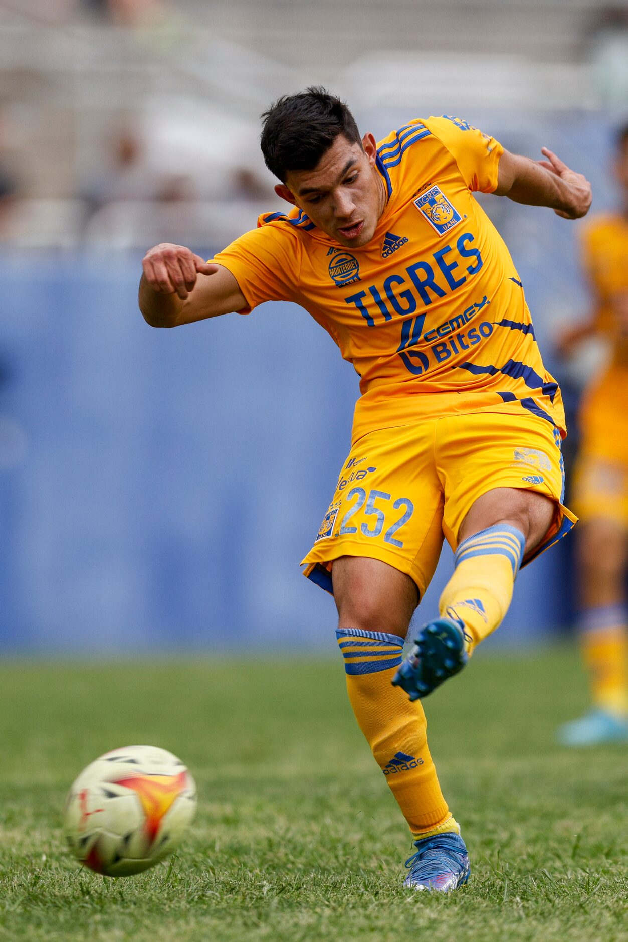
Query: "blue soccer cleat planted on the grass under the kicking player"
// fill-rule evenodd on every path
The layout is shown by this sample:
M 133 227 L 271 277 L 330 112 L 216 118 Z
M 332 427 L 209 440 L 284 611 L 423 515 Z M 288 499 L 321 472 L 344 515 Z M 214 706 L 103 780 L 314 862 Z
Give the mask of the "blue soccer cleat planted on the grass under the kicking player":
M 410 873 L 404 886 L 450 893 L 465 884 L 471 874 L 467 848 L 458 834 L 437 834 L 414 841 L 416 853 L 406 861 Z

